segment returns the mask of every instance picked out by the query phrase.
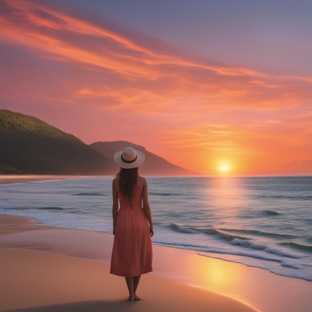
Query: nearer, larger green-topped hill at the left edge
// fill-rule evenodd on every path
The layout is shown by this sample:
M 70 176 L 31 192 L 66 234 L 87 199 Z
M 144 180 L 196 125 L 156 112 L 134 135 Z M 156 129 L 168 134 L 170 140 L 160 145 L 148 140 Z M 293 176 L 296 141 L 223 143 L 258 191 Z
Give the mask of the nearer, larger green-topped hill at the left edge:
M 0 110 L 1 174 L 113 174 L 113 161 L 73 135 L 28 115 Z

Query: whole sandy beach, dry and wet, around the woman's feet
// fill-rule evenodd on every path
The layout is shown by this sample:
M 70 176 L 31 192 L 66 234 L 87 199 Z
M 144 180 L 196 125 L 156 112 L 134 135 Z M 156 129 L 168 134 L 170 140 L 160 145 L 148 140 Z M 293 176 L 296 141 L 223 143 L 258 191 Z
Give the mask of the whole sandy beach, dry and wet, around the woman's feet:
M 130 303 L 124 279 L 109 274 L 112 243 L 112 234 L 0 215 L 0 311 L 310 311 L 308 281 L 157 245 L 144 300 Z M 191 286 L 203 281 L 210 291 Z

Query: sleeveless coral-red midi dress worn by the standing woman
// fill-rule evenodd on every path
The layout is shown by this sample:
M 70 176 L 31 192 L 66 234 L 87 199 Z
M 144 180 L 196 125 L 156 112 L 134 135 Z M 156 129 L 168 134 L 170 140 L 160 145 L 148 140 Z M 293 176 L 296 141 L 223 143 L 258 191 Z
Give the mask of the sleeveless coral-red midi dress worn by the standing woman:
M 114 245 L 111 258 L 111 274 L 134 277 L 153 271 L 152 240 L 150 226 L 142 207 L 143 181 L 132 200 L 117 193 L 120 209 L 115 225 Z

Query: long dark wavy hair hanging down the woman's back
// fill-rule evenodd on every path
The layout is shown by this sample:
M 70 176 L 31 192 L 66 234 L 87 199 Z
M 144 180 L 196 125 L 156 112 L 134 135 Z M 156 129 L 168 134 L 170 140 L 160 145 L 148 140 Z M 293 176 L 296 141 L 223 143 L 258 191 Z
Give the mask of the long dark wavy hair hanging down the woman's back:
M 115 177 L 118 178 L 118 188 L 121 194 L 131 199 L 138 188 L 139 167 L 120 168 Z

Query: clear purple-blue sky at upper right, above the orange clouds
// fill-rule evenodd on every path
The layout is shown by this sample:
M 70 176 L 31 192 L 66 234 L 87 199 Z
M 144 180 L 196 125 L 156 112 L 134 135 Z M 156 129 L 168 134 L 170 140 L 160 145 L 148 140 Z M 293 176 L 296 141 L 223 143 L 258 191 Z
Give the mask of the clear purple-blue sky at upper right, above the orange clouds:
M 311 0 L 40 0 L 203 59 L 311 75 Z M 310 65 L 309 65 L 310 64 Z

